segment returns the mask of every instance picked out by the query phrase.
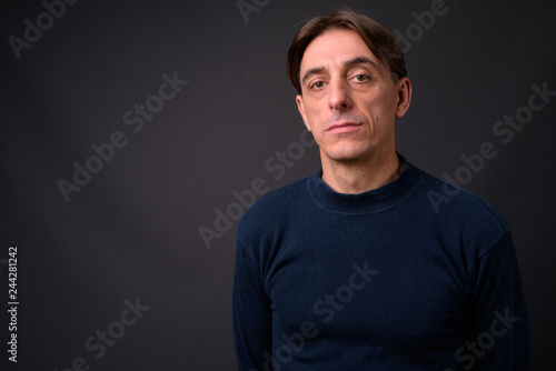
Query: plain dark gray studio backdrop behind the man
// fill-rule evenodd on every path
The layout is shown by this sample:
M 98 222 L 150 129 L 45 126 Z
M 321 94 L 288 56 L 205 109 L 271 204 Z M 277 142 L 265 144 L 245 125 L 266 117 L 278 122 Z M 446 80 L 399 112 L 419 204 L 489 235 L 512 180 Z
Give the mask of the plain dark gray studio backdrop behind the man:
M 252 0 L 246 0 L 252 3 Z M 304 130 L 287 81 L 298 22 L 341 4 L 405 33 L 424 1 L 257 1 L 248 22 L 229 1 L 87 1 L 42 32 L 18 60 L 40 1 L 2 1 L 0 259 L 18 247 L 19 370 L 235 370 L 230 297 L 235 228 L 208 249 L 199 228 L 232 191 L 261 178 L 271 190 L 317 170 L 316 147 L 284 177 L 265 168 Z M 461 156 L 492 142 L 497 156 L 464 187 L 498 208 L 514 231 L 532 318 L 534 369 L 553 364 L 556 97 L 504 144 L 493 127 L 526 106 L 532 84 L 556 90 L 550 1 L 446 0 L 407 51 L 414 99 L 397 150 L 451 177 Z M 122 116 L 158 92 L 162 73 L 189 83 L 141 131 Z M 66 202 L 57 186 L 91 144 L 121 131 L 113 159 Z M 275 161 L 275 160 L 269 160 Z M 8 269 L 0 260 L 2 362 L 8 354 Z M 310 274 L 310 272 L 308 272 Z M 86 340 L 143 312 L 100 359 Z

